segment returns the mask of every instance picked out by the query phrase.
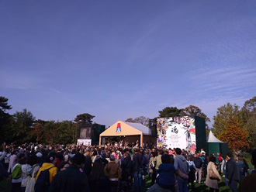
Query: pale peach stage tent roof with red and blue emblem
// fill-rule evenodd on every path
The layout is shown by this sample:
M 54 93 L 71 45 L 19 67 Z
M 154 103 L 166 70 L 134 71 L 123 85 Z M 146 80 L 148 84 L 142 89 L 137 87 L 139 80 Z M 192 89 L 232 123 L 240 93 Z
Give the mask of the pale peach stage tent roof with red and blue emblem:
M 116 132 L 118 124 L 120 125 L 121 132 Z M 148 127 L 133 122 L 118 121 L 111 125 L 108 129 L 100 134 L 100 136 L 123 136 L 123 135 L 149 135 L 150 130 Z

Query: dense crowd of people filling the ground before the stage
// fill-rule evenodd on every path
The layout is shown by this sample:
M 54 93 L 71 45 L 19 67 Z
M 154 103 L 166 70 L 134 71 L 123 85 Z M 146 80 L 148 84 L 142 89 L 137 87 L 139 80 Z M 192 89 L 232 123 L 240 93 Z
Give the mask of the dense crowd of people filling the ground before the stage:
M 12 180 L 12 192 L 40 191 L 195 191 L 195 183 L 219 191 L 256 191 L 256 173 L 248 173 L 243 156 L 201 149 L 162 149 L 152 144 L 116 142 L 105 146 L 2 145 L 0 180 Z M 256 164 L 256 149 L 251 163 Z M 146 187 L 146 177 L 150 187 Z M 240 183 L 239 189 L 237 183 Z

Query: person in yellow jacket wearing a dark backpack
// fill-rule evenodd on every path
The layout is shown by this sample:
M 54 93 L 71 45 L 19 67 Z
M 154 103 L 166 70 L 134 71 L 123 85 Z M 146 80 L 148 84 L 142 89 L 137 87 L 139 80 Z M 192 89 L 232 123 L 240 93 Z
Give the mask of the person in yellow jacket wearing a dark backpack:
M 45 192 L 50 187 L 50 183 L 57 174 L 55 154 L 47 156 L 47 162 L 43 163 L 42 167 L 36 175 L 35 192 Z

